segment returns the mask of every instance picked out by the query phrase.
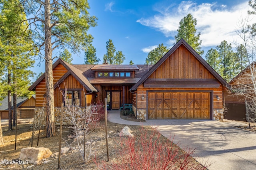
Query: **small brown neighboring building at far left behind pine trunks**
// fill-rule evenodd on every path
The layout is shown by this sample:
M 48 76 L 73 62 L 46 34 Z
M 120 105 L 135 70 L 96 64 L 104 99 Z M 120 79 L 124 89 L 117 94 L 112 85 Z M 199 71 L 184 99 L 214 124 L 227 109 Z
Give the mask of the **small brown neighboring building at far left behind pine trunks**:
M 1 101 L 0 115 L 1 119 L 8 119 L 8 97 L 5 97 Z M 35 95 L 28 99 L 27 97 L 17 98 L 17 117 L 18 119 L 28 119 L 34 117 L 34 109 L 36 106 Z M 13 98 L 12 98 L 12 109 L 13 109 Z

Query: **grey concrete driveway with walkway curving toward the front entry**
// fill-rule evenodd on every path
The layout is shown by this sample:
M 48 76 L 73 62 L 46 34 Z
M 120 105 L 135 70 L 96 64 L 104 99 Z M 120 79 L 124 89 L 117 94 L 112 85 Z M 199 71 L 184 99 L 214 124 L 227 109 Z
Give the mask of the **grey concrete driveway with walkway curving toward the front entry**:
M 198 162 L 211 162 L 209 170 L 256 169 L 256 133 L 236 127 L 243 123 L 229 120 L 147 120 L 142 124 L 124 121 L 120 118 L 120 111 L 111 111 L 108 121 L 157 126 L 163 136 L 174 138 L 173 142 L 180 148 L 194 148 Z

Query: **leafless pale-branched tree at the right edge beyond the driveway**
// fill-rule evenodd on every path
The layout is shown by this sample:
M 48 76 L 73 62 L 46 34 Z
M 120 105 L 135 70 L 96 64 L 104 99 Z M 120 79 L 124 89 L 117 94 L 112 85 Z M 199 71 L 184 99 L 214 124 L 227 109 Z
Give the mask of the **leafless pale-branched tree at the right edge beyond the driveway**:
M 242 18 L 238 24 L 238 30 L 236 33 L 243 41 L 246 49 L 246 57 L 248 61 L 248 67 L 246 67 L 241 73 L 239 73 L 230 82 L 231 87 L 229 92 L 231 95 L 239 97 L 242 101 L 247 101 L 249 117 L 247 120 L 256 122 L 256 39 L 250 25 L 248 24 L 249 17 Z M 240 45 L 236 43 L 237 45 Z M 250 63 L 250 64 L 249 64 Z

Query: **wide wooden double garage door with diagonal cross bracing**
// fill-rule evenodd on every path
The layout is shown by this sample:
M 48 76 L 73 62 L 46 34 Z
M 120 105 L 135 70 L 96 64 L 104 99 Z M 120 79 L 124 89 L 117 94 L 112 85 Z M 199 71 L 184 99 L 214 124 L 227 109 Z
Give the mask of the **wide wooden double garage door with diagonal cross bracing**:
M 210 119 L 209 92 L 148 92 L 149 119 Z

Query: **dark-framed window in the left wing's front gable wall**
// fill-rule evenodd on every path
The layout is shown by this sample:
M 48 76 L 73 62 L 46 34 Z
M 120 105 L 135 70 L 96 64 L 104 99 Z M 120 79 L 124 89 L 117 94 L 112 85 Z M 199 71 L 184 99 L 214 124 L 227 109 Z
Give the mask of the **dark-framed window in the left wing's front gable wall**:
M 66 91 L 65 106 L 80 106 L 80 91 Z

